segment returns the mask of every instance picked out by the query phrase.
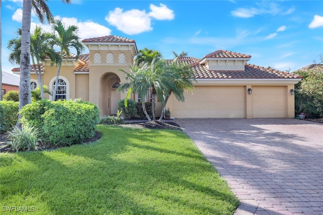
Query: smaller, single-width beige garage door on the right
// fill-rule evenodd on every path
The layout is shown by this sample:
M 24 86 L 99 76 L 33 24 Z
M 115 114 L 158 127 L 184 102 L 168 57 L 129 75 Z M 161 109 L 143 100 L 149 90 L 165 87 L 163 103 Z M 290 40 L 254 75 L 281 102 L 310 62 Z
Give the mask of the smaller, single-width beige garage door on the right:
M 252 87 L 252 118 L 287 117 L 286 87 Z

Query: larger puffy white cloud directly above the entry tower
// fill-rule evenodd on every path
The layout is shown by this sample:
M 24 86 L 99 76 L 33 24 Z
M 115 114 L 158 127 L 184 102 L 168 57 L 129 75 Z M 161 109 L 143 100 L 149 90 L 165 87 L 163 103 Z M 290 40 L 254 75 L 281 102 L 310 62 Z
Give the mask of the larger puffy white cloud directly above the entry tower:
M 117 27 L 118 30 L 129 35 L 152 30 L 150 17 L 144 10 L 139 11 L 133 9 L 123 12 L 123 9 L 116 8 L 114 11 L 109 12 L 105 20 L 110 25 Z

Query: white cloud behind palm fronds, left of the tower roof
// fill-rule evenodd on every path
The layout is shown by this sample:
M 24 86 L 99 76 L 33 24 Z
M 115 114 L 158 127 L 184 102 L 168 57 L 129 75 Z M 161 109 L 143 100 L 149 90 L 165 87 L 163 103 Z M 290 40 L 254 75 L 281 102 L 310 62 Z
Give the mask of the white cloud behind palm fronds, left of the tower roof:
M 55 19 L 61 20 L 66 27 L 70 25 L 76 25 L 79 28 L 78 35 L 81 39 L 91 38 L 91 37 L 98 37 L 98 36 L 107 36 L 111 35 L 111 29 L 102 26 L 98 23 L 92 22 L 91 20 L 80 22 L 76 18 L 72 17 L 60 17 L 57 16 Z M 33 32 L 37 26 L 40 26 L 44 31 L 51 32 L 51 26 L 47 24 L 41 23 L 31 23 L 30 30 Z

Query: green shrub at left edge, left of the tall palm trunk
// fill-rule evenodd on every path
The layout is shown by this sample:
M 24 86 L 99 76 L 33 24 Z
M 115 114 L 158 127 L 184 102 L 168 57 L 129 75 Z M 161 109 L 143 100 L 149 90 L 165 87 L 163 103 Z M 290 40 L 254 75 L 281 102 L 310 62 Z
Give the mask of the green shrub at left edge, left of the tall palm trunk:
M 0 101 L 0 132 L 12 129 L 18 120 L 19 102 Z

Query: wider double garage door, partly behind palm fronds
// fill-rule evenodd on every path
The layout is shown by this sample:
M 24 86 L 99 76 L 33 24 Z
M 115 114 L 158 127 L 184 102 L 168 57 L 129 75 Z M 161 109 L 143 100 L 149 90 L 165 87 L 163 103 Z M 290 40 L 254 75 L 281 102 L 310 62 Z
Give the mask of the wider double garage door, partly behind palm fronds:
M 177 118 L 245 118 L 244 86 L 195 86 L 185 102 L 174 99 Z

